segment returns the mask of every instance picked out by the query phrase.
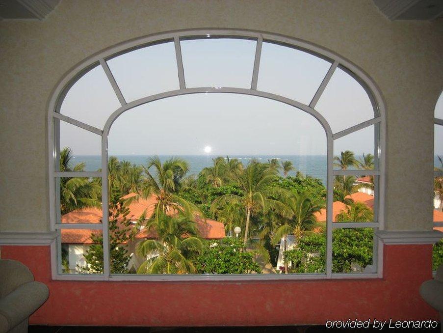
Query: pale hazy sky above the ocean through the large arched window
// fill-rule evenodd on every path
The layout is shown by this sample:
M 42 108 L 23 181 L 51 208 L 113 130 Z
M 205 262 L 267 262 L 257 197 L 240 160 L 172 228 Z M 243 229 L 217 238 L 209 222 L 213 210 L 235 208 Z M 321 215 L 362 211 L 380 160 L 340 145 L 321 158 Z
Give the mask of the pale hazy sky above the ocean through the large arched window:
M 186 87 L 250 87 L 255 41 L 184 40 L 181 48 Z M 170 42 L 120 55 L 108 65 L 128 102 L 179 88 Z M 314 55 L 265 42 L 257 88 L 309 104 L 330 65 Z M 103 128 L 119 106 L 99 66 L 73 85 L 61 113 Z M 334 133 L 374 117 L 363 87 L 339 68 L 315 109 Z M 100 137 L 61 121 L 60 146 L 70 146 L 75 155 L 98 155 Z M 324 155 L 326 136 L 313 116 L 281 102 L 200 93 L 126 111 L 111 127 L 108 151 L 110 155 L 204 155 L 205 147 L 211 148 L 211 155 Z M 335 154 L 346 149 L 358 155 L 373 153 L 374 126 L 335 141 Z

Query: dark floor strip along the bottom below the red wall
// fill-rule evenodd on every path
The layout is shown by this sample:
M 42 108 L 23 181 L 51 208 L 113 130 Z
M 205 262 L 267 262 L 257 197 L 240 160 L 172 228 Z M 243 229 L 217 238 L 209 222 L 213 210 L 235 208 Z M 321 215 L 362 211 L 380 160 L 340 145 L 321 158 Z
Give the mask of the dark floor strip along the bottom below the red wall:
M 438 333 L 435 329 L 391 329 L 401 332 Z M 383 332 L 391 331 L 384 329 Z M 268 327 L 97 327 L 97 326 L 29 326 L 29 333 L 375 333 L 378 329 L 328 329 L 324 326 L 268 326 Z

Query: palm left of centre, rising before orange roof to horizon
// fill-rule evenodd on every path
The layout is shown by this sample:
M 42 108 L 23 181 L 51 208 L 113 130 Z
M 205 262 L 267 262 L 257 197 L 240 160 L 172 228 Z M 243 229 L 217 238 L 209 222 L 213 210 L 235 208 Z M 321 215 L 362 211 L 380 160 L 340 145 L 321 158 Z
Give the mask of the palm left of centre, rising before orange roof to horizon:
M 151 172 L 151 168 L 156 171 Z M 141 196 L 156 198 L 156 207 L 153 218 L 158 219 L 162 214 L 182 213 L 188 219 L 193 219 L 200 210 L 193 203 L 178 195 L 183 187 L 182 181 L 189 167 L 186 161 L 180 158 L 171 158 L 161 163 L 158 156 L 151 158 L 147 167 L 144 167 L 144 179 L 141 182 Z

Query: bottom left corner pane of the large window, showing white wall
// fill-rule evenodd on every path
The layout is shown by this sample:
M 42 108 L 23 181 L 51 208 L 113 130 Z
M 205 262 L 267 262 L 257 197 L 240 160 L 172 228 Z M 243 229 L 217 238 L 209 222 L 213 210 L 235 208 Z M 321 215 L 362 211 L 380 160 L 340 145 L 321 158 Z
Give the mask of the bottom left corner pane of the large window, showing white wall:
M 62 229 L 60 267 L 63 274 L 103 274 L 102 230 Z

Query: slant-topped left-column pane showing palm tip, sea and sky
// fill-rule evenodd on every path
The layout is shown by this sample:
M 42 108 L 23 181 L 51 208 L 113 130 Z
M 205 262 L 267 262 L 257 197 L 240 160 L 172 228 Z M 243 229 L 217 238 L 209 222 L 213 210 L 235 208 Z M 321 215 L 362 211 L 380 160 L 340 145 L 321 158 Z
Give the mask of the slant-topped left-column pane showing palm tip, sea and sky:
M 60 171 L 97 171 L 101 154 L 101 136 L 60 120 Z

